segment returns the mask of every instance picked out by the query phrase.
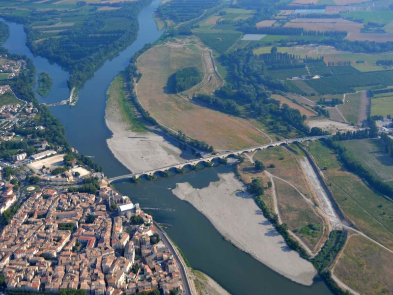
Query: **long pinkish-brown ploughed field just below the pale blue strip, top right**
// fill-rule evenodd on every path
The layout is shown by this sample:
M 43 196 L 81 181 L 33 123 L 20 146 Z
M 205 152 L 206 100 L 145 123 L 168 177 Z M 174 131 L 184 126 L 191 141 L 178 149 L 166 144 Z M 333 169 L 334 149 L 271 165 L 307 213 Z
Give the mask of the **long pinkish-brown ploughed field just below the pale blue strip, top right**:
M 330 19 L 327 22 L 325 19 L 318 21 L 319 19 L 299 19 L 292 20 L 286 23 L 286 28 L 303 28 L 305 30 L 319 30 L 319 31 L 332 31 L 332 30 L 345 30 L 348 33 L 359 33 L 360 29 L 363 28 L 363 24 L 354 23 L 351 21 L 345 21 L 341 19 Z M 342 21 L 345 21 L 342 22 Z

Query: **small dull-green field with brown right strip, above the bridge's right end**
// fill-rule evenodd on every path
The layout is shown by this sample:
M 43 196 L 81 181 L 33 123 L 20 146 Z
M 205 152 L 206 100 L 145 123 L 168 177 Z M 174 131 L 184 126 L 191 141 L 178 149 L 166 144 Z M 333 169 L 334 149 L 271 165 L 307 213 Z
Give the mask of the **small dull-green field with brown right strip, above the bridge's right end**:
M 362 125 L 367 119 L 365 107 L 362 107 L 367 100 L 366 91 L 350 93 L 345 96 L 344 104 L 337 105 L 337 109 L 349 123 Z

